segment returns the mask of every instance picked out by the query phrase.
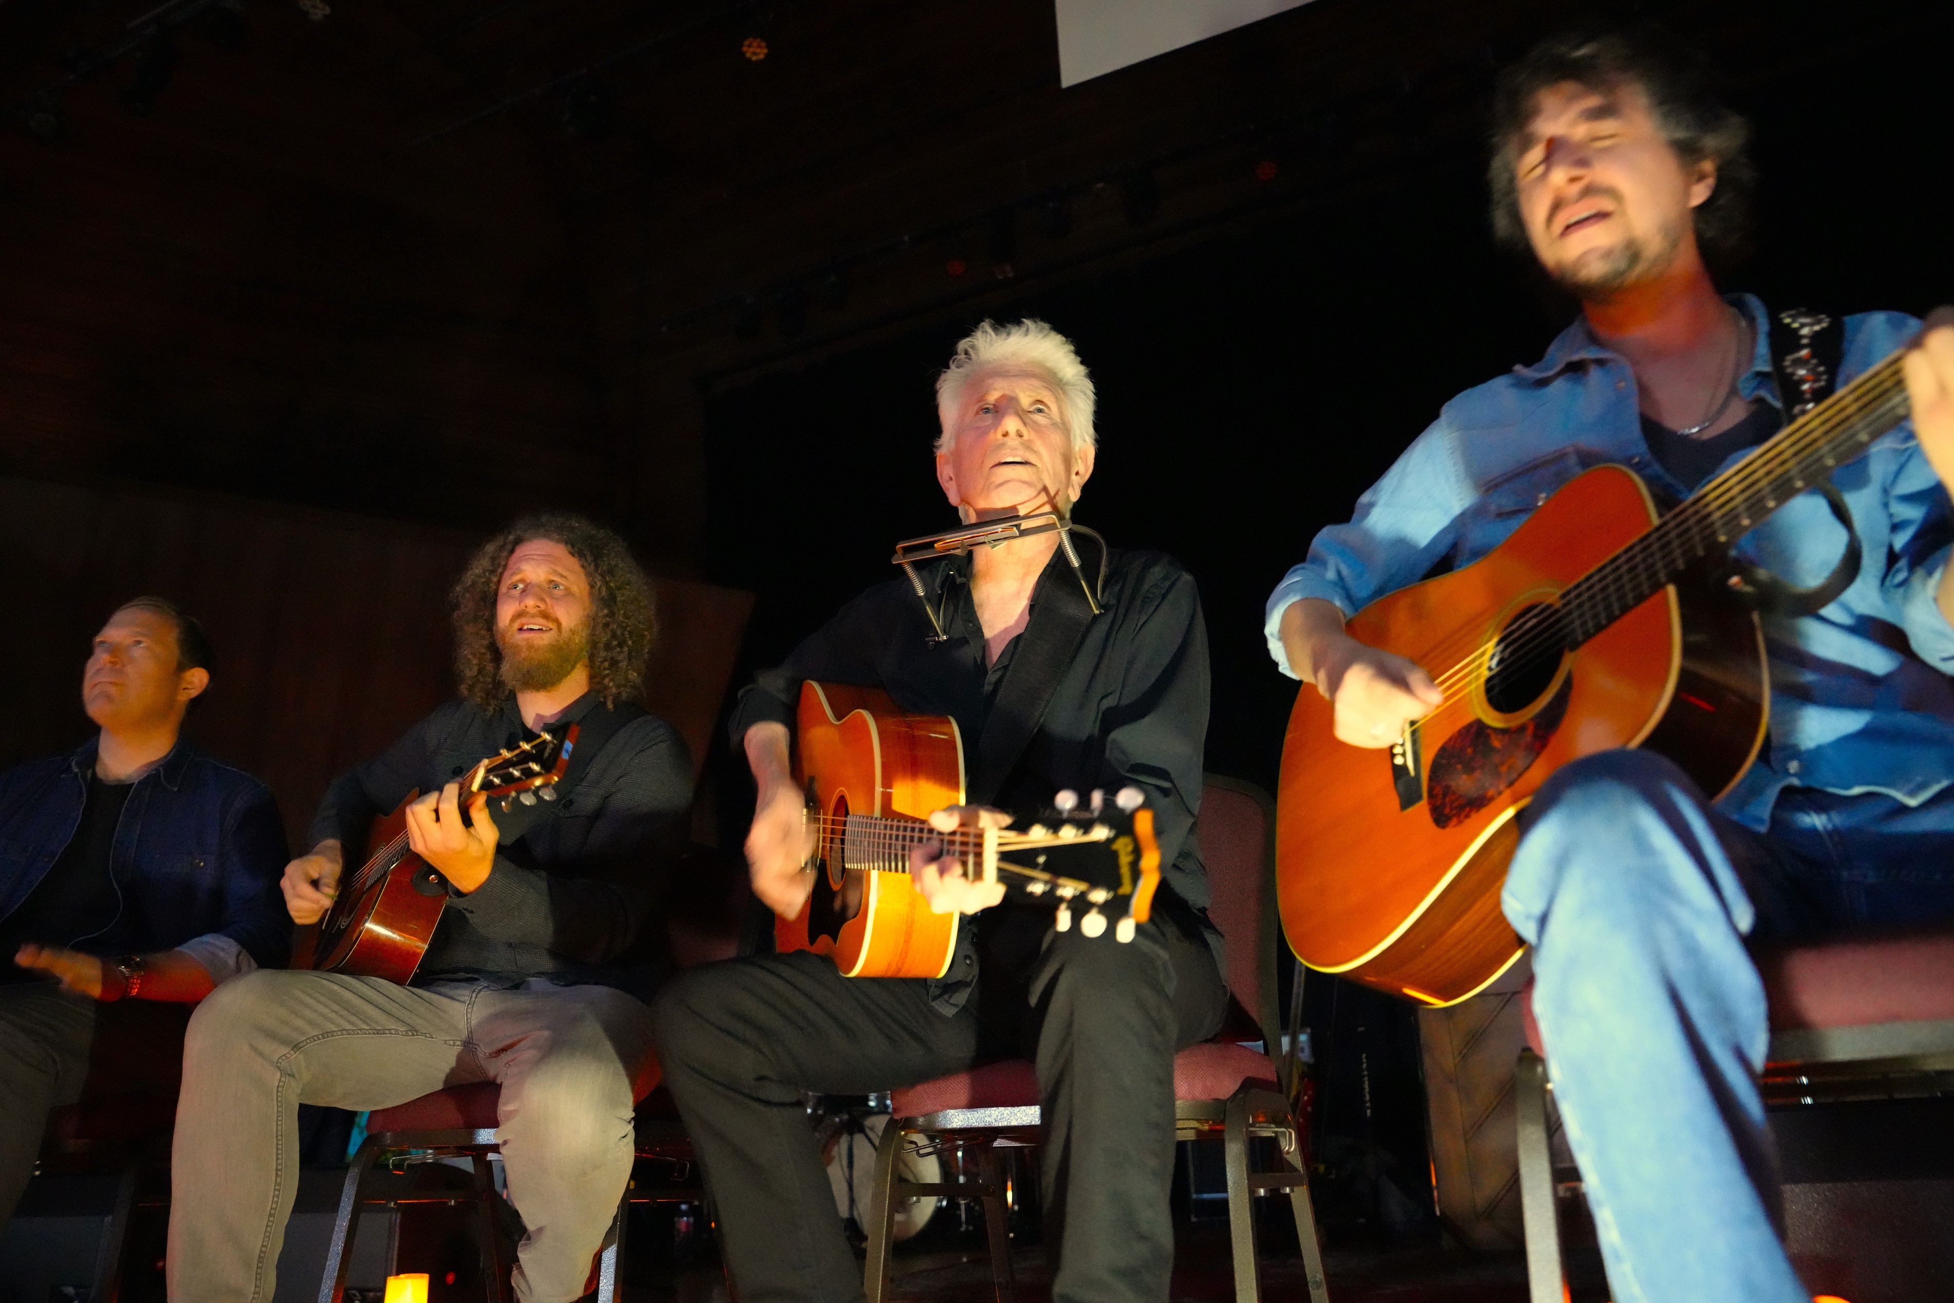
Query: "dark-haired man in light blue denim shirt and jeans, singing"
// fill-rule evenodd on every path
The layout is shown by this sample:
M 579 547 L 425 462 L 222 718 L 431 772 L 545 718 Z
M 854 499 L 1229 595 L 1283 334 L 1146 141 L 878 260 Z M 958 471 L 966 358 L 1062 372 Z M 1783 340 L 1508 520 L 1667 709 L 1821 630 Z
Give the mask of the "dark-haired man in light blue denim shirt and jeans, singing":
M 1720 297 L 1704 270 L 1702 250 L 1739 234 L 1749 168 L 1743 121 L 1692 57 L 1655 33 L 1548 41 L 1501 78 L 1493 145 L 1495 227 L 1583 316 L 1540 363 L 1446 404 L 1270 598 L 1270 652 L 1354 746 L 1430 711 L 1442 666 L 1364 647 L 1350 613 L 1477 561 L 1587 467 L 1682 498 L 1782 424 L 1764 307 Z M 1841 383 L 1917 330 L 1848 318 Z M 1743 781 L 1712 805 L 1669 760 L 1614 750 L 1524 811 L 1503 906 L 1534 947 L 1616 1303 L 1807 1297 L 1772 1229 L 1745 942 L 1954 918 L 1954 330 L 1923 336 L 1905 373 L 1913 422 L 1833 475 L 1856 580 L 1815 615 L 1764 621 L 1770 738 Z M 1805 494 L 1741 553 L 1811 586 L 1845 541 Z

